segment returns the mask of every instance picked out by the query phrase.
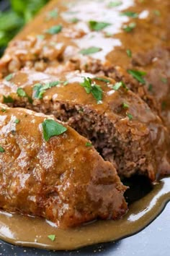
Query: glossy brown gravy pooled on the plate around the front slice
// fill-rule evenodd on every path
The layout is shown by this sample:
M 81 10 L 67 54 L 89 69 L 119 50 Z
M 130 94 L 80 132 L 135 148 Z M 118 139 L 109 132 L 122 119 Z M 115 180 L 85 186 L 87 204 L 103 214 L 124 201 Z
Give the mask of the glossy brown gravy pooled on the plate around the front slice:
M 148 195 L 133 202 L 128 214 L 119 221 L 96 221 L 76 229 L 62 230 L 42 218 L 0 211 L 0 238 L 12 244 L 56 250 L 115 241 L 151 223 L 170 200 L 169 187 L 170 177 L 162 179 Z M 50 234 L 55 234 L 54 242 L 48 238 Z

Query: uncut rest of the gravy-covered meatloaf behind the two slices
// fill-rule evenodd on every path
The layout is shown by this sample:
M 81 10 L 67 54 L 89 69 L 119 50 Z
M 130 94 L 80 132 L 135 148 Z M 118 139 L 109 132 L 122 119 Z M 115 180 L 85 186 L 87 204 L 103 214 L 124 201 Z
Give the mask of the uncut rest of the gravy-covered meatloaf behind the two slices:
M 0 72 L 99 72 L 123 80 L 170 127 L 169 24 L 169 0 L 50 1 L 9 43 Z

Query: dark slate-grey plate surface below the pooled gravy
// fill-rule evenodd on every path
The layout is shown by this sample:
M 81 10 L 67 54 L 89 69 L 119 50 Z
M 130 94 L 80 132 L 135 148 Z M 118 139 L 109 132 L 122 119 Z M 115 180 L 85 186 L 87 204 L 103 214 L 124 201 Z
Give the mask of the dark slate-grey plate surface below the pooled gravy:
M 1 10 L 8 6 L 9 1 L 0 0 Z M 118 242 L 97 244 L 71 252 L 53 252 L 44 249 L 17 247 L 0 240 L 0 256 L 168 256 L 170 255 L 169 235 L 170 203 L 146 229 Z

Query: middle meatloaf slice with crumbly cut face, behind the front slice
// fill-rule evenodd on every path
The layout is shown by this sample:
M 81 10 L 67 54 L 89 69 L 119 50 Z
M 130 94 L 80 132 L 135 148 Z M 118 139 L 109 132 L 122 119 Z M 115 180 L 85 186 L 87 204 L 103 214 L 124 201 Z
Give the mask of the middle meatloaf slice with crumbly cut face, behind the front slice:
M 0 101 L 54 114 L 88 137 L 118 174 L 169 174 L 169 133 L 123 82 L 71 72 L 53 77 L 24 70 L 0 83 Z

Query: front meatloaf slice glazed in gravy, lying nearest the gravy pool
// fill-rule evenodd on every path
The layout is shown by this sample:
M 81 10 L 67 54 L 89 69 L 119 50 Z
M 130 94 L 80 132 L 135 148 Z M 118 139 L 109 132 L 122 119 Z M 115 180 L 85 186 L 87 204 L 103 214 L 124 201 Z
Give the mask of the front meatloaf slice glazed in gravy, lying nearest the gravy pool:
M 86 138 L 53 116 L 0 110 L 0 208 L 61 228 L 126 213 L 126 187 Z

